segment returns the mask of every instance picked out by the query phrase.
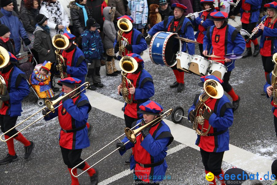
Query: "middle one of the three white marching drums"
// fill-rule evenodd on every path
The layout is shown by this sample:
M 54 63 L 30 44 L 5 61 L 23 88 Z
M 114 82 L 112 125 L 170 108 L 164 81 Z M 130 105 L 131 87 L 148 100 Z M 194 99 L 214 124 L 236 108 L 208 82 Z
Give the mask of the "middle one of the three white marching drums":
M 205 76 L 211 61 L 200 55 L 193 55 L 189 71 L 198 76 Z

